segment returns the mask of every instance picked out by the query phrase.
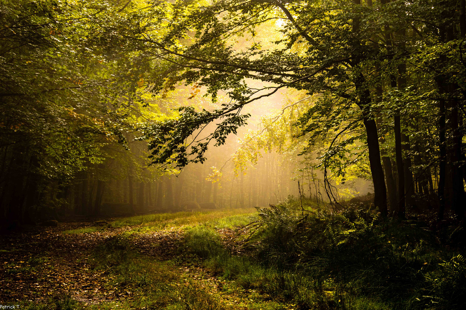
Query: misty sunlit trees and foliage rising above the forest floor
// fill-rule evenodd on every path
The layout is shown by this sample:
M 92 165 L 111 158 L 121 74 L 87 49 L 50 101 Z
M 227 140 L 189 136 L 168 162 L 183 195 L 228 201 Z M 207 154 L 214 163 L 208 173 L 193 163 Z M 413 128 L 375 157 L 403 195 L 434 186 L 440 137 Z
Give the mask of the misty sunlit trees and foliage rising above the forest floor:
M 464 218 L 464 1 L 2 1 L 1 20 L 4 219 L 368 191 Z

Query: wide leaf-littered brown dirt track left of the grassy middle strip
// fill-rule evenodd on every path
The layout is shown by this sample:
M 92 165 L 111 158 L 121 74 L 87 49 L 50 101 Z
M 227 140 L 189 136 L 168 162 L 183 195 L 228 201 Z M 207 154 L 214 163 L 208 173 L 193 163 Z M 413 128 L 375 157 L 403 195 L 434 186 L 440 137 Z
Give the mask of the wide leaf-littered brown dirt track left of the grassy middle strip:
M 108 299 L 102 272 L 89 270 L 91 250 L 105 238 L 121 232 L 62 234 L 91 225 L 60 223 L 59 227 L 27 227 L 0 236 L 0 301 L 41 301 L 50 296 Z M 87 296 L 87 297 L 82 297 Z

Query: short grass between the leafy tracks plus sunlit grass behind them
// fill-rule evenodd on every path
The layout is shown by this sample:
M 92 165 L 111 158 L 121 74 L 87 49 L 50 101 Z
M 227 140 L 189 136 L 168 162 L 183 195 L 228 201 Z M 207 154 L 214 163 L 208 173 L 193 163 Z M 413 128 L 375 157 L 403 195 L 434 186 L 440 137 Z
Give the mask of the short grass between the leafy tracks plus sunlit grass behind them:
M 256 212 L 252 211 L 256 210 L 249 208 L 142 215 L 116 220 L 104 228 L 84 227 L 64 233 L 87 234 L 110 227 L 134 226 L 129 231 L 108 238 L 95 249 L 89 260 L 91 269 L 103 270 L 108 275 L 110 279 L 106 284 L 108 289 L 134 293 L 134 298 L 128 299 L 118 306 L 120 309 L 291 309 L 292 307 L 290 308 L 289 305 L 287 306 L 280 301 L 265 300 L 264 296 L 257 292 L 245 292 L 236 284 L 225 283 L 225 287 L 218 292 L 206 290 L 204 287 L 206 283 L 199 282 L 199 280 L 187 280 L 189 277 L 187 278 L 179 270 L 178 265 L 175 265 L 175 262 L 180 263 L 181 261 L 160 262 L 152 257 L 141 255 L 130 247 L 130 238 L 134 236 L 134 233 L 144 233 L 164 227 L 185 227 L 189 230 L 192 227 L 198 227 L 199 223 L 204 223 L 212 228 L 235 228 L 253 220 Z M 217 234 L 214 236 L 218 237 Z M 204 240 L 204 246 L 209 247 L 210 245 L 212 245 L 210 240 Z M 206 253 L 211 252 L 212 248 L 206 249 Z M 228 301 L 227 299 L 230 297 L 225 296 L 233 296 L 235 302 Z M 78 306 L 82 305 L 78 304 Z M 113 306 L 112 303 L 103 303 L 99 305 L 99 309 L 111 309 Z M 50 305 L 50 302 L 46 304 L 46 307 L 48 307 L 47 309 L 55 309 L 55 306 Z M 44 308 L 44 310 L 46 309 Z

